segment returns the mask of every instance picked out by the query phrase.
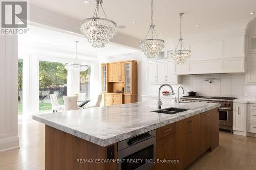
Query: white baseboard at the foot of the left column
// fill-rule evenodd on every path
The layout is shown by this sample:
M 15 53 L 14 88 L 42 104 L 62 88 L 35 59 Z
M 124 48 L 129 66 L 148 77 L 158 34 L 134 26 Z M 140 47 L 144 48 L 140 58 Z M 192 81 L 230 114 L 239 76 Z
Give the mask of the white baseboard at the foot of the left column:
M 0 139 L 0 152 L 19 148 L 18 136 Z

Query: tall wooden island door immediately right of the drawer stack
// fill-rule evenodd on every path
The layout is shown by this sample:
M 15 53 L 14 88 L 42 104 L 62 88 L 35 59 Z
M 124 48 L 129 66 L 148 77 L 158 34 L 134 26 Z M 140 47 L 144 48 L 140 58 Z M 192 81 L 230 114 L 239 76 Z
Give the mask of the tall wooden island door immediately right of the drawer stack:
M 190 164 L 191 155 L 191 137 L 190 126 L 191 119 L 186 118 L 176 123 L 176 169 L 185 169 Z

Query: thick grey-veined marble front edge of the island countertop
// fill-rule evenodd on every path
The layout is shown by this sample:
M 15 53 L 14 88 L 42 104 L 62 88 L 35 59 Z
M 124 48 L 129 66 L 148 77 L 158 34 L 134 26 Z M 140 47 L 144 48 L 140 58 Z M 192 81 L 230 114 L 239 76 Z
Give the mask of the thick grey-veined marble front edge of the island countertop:
M 101 147 L 106 147 L 108 145 L 117 143 L 117 142 L 122 141 L 124 139 L 130 138 L 130 137 L 133 137 L 133 136 L 136 136 L 136 135 L 139 135 L 139 134 L 142 134 L 142 133 L 145 133 L 145 132 L 148 132 L 148 131 L 151 131 L 151 130 L 154 130 L 154 129 L 157 129 L 157 128 L 160 128 L 160 127 L 172 124 L 172 123 L 175 123 L 175 122 L 178 122 L 179 120 L 182 120 L 182 119 L 185 119 L 185 118 L 203 113 L 203 112 L 208 111 L 208 110 L 218 108 L 220 106 L 221 106 L 220 104 L 216 104 L 215 106 L 209 106 L 209 107 L 204 108 L 204 109 L 188 110 L 188 111 L 186 111 L 186 113 L 178 113 L 178 114 L 180 114 L 179 117 L 173 117 L 173 118 L 164 120 L 164 121 L 162 121 L 160 123 L 157 123 L 157 124 L 141 127 L 140 129 L 136 129 L 136 130 L 133 130 L 133 131 L 130 131 L 130 132 L 127 132 L 127 133 L 122 133 L 122 134 L 119 134 L 119 135 L 116 135 L 116 136 L 113 136 L 113 137 L 110 137 L 110 138 L 106 138 L 106 139 L 100 139 L 100 138 L 97 138 L 93 135 L 82 133 L 80 131 L 77 131 L 77 130 L 74 130 L 74 129 L 71 129 L 71 128 L 68 128 L 68 127 L 50 122 L 46 119 L 38 117 L 37 115 L 33 115 L 32 118 L 34 120 L 42 123 L 42 124 L 45 124 L 45 125 L 48 125 L 50 127 L 55 128 L 55 129 L 58 129 L 60 131 L 69 133 L 69 134 L 74 135 L 76 137 L 79 137 L 81 139 L 90 141 L 92 143 L 100 145 Z M 187 112 L 189 112 L 189 113 L 187 113 Z

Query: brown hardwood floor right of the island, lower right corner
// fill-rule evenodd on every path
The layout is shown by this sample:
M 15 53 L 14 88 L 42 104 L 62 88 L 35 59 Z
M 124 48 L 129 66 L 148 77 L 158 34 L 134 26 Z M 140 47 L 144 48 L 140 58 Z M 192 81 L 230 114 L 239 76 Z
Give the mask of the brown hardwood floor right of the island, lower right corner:
M 220 145 L 189 169 L 256 169 L 256 138 L 220 131 Z

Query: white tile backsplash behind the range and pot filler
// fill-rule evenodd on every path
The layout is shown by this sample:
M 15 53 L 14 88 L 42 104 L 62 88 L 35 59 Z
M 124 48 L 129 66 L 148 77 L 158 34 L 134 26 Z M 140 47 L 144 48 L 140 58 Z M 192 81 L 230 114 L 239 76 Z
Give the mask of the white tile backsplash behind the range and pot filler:
M 216 78 L 216 81 L 209 84 L 205 78 Z M 149 84 L 148 94 L 157 95 L 159 86 Z M 242 97 L 246 91 L 248 97 L 256 97 L 256 85 L 246 85 L 245 74 L 185 75 L 181 76 L 181 84 L 173 85 L 175 93 L 179 86 L 184 87 L 184 95 L 193 90 L 197 95 Z M 163 90 L 170 91 L 169 87 L 163 87 Z

